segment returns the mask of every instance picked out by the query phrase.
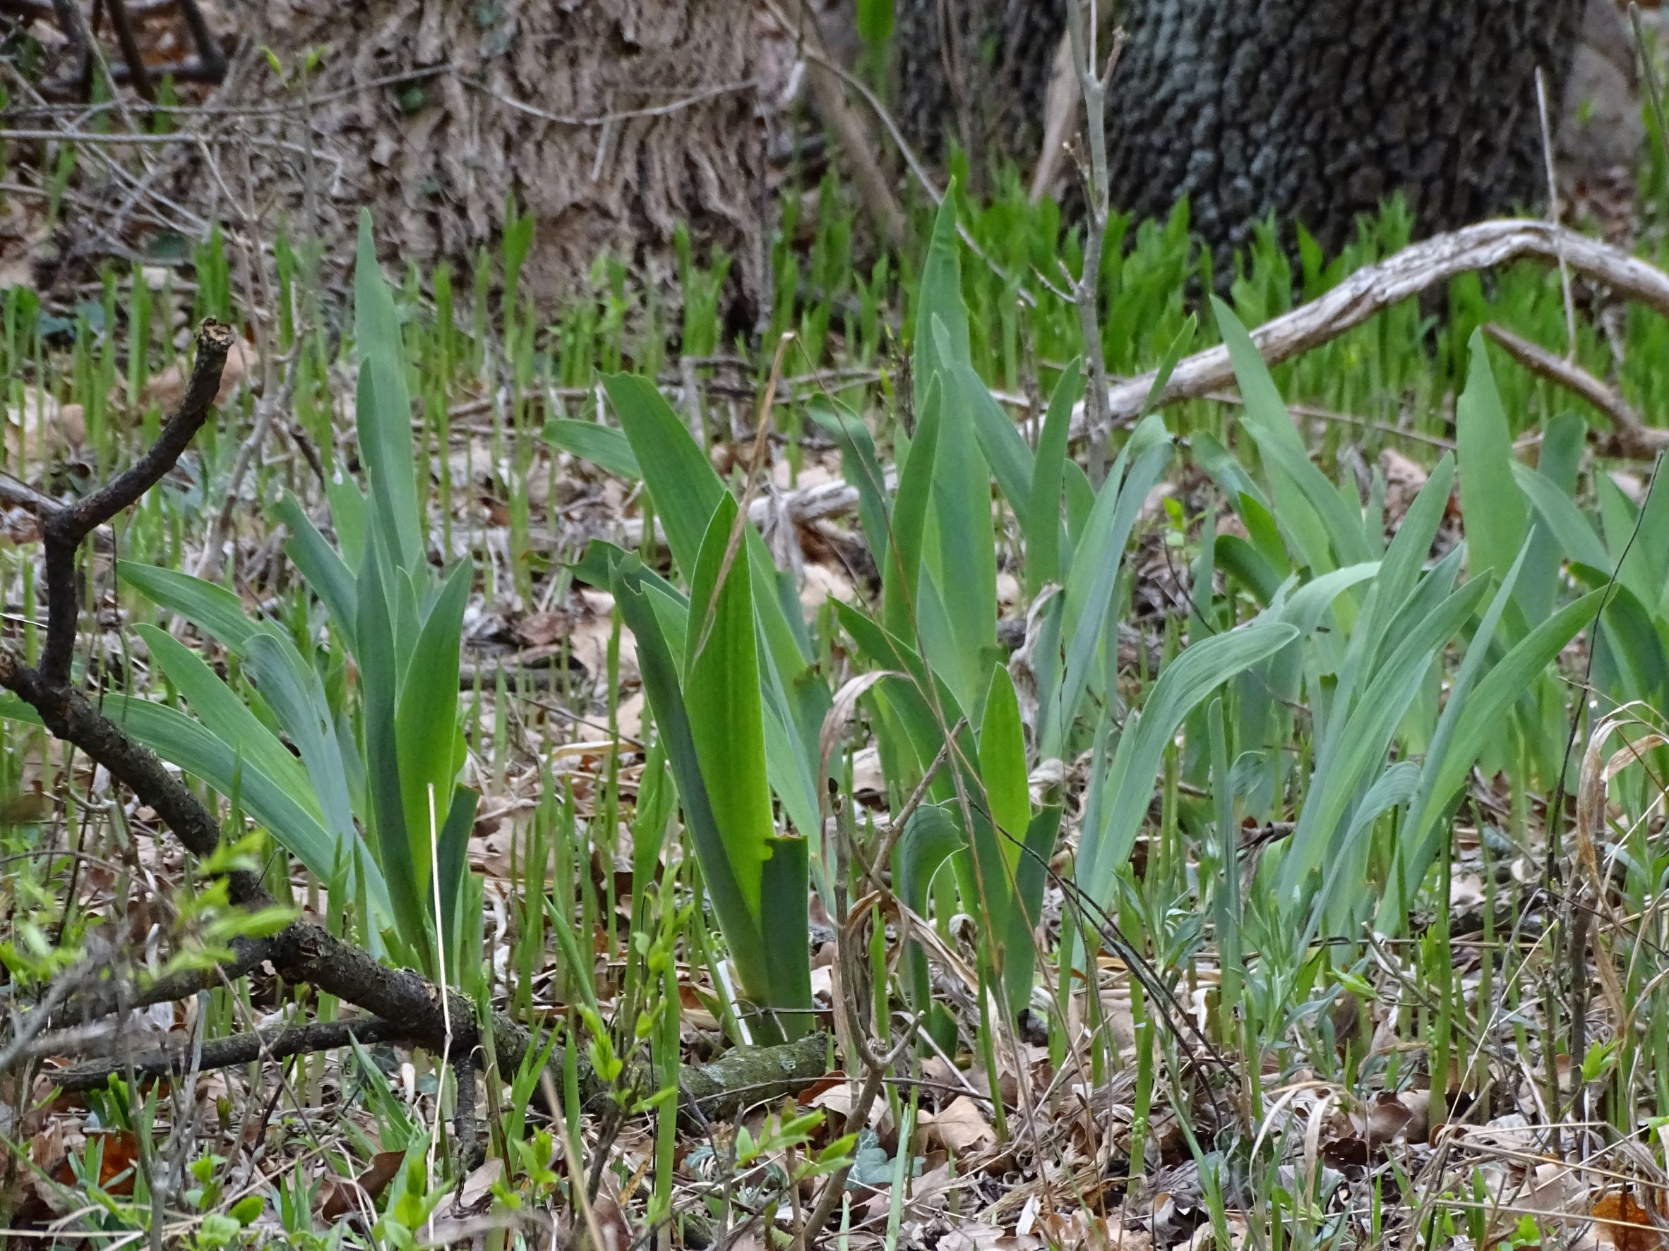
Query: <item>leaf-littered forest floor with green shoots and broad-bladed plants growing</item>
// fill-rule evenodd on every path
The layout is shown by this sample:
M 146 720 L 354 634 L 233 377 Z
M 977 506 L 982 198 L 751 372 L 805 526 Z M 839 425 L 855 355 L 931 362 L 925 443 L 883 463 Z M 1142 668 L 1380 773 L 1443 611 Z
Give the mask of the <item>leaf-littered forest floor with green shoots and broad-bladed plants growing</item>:
M 13 172 L 0 214 L 50 242 L 32 215 L 93 207 L 58 192 Z M 1273 370 L 1238 327 L 1400 254 L 1404 215 L 1325 270 L 1255 249 L 1218 310 L 1190 295 L 1185 230 L 1143 227 L 1103 275 L 1108 369 L 1180 377 L 1228 344 L 1238 385 L 1105 449 L 1073 407 L 1078 310 L 1028 277 L 1078 242 L 1018 195 L 953 203 L 978 252 L 921 207 L 898 254 L 855 242 L 831 183 L 788 197 L 744 344 L 699 264 L 676 317 L 624 270 L 532 307 L 514 240 L 536 224 L 512 219 L 471 290 L 391 267 L 392 424 L 355 390 L 374 335 L 289 245 L 215 232 L 40 287 L 40 255 L 13 255 L 7 647 L 45 647 L 42 500 L 152 445 L 200 322 L 232 325 L 215 415 L 92 535 L 75 681 L 254 839 L 284 906 L 551 1049 L 459 1081 L 394 1032 L 225 1048 L 352 1019 L 269 966 L 43 1031 L 53 994 L 144 987 L 250 931 L 155 807 L 10 701 L 3 1236 L 778 1251 L 816 1213 L 843 1251 L 1664 1246 L 1664 195 L 1654 160 L 1634 195 L 1577 205 L 1659 274 L 1634 299 L 1522 260 L 1444 284 L 1440 319 L 1402 300 Z M 1624 417 L 1644 455 L 1607 442 Z M 379 480 L 391 429 L 406 512 Z M 749 535 L 726 575 L 746 627 L 703 626 L 736 667 L 698 691 L 703 646 L 661 629 L 693 624 L 731 497 L 763 559 Z M 399 692 L 446 691 L 386 752 L 366 619 L 335 615 L 337 565 L 302 542 L 359 575 L 401 542 L 382 519 L 421 534 L 394 570 L 414 620 L 466 570 L 451 646 L 404 636 L 424 664 Z M 756 891 L 804 1004 L 749 1007 L 758 957 L 653 702 L 674 696 L 733 739 L 723 777 L 699 761 L 716 807 L 763 797 L 809 837 L 789 921 Z M 454 739 L 434 776 L 474 809 L 452 911 L 379 912 L 352 886 L 397 881 L 376 777 Z M 352 867 L 309 862 L 334 804 Z M 744 1049 L 773 1031 L 799 1037 Z

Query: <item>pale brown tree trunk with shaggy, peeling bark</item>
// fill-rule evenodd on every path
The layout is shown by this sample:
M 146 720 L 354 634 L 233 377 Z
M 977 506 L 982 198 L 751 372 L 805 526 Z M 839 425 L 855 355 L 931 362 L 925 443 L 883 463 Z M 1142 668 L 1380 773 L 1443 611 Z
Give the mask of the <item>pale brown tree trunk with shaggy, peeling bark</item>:
M 250 200 L 297 237 L 345 257 L 366 205 L 384 255 L 467 272 L 514 197 L 534 219 L 522 290 L 552 302 L 604 254 L 666 287 L 684 224 L 698 260 L 733 259 L 729 314 L 751 324 L 768 292 L 763 43 L 734 0 L 269 0 L 245 23 L 217 103 L 287 107 L 249 123 L 267 140 Z

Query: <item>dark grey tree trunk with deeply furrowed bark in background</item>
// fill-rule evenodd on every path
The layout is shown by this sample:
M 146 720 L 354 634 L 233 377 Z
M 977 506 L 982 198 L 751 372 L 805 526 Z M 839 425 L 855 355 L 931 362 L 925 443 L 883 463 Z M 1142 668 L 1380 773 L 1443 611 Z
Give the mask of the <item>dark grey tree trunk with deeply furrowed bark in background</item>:
M 1125 0 L 1115 20 L 1130 38 L 1108 93 L 1115 205 L 1160 217 L 1188 197 L 1195 232 L 1225 260 L 1268 214 L 1334 252 L 1399 190 L 1420 234 L 1537 203 L 1535 70 L 1557 120 L 1584 7 Z M 976 152 L 995 142 L 1030 167 L 1035 132 L 963 115 L 990 100 L 1041 120 L 1063 15 L 1065 0 L 906 0 L 898 102 L 911 133 L 971 133 Z

